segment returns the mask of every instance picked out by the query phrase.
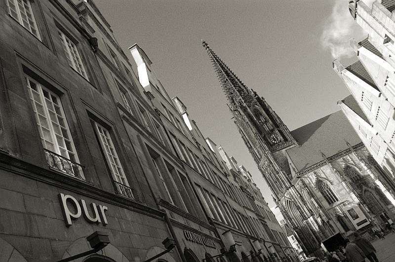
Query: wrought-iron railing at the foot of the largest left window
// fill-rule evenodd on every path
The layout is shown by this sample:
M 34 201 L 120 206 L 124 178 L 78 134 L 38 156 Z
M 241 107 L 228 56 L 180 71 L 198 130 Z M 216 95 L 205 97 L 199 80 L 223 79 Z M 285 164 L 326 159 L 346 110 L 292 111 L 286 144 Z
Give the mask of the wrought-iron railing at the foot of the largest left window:
M 65 173 L 69 176 L 76 177 L 81 180 L 85 180 L 85 176 L 83 171 L 85 169 L 84 166 L 79 163 L 73 162 L 66 157 L 63 157 L 57 153 L 54 153 L 49 150 L 45 150 L 45 158 L 48 166 L 52 169 Z

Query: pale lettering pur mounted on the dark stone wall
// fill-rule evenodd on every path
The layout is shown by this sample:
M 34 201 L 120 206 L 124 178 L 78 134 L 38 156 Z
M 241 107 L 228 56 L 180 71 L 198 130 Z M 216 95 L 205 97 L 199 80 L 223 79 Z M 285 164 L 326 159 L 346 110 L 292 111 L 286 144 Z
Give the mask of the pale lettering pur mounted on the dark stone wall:
M 84 218 L 90 223 L 102 223 L 103 225 L 108 224 L 106 214 L 104 213 L 108 209 L 106 206 L 97 206 L 95 203 L 91 203 L 90 211 L 93 213 L 93 215 L 91 216 L 89 214 L 85 200 L 80 199 L 79 201 L 77 201 L 77 199 L 73 196 L 65 195 L 63 193 L 59 194 L 59 199 L 62 203 L 62 211 L 65 217 L 66 225 L 72 225 L 72 219 L 78 219 L 81 215 L 83 215 Z M 73 206 L 74 208 L 70 210 L 67 203 L 72 204 L 70 206 Z

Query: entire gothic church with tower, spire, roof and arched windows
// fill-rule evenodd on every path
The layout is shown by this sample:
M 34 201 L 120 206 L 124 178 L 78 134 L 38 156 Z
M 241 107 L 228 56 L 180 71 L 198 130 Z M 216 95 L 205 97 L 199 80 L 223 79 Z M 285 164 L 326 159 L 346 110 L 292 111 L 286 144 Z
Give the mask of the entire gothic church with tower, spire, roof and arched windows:
M 289 131 L 263 97 L 248 89 L 203 41 L 237 129 L 307 255 L 320 243 L 394 218 L 393 183 L 346 116 L 334 112 Z

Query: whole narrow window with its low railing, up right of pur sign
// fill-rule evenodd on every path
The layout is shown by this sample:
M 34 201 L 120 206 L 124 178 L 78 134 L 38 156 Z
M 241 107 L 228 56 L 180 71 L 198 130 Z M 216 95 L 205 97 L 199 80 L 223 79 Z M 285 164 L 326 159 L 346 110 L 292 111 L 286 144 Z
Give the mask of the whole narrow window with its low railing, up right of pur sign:
M 117 151 L 115 150 L 113 140 L 110 136 L 110 132 L 97 122 L 94 122 L 94 125 L 100 145 L 106 157 L 107 164 L 110 168 L 117 193 L 133 198 L 132 190 L 129 187 L 125 172 L 123 171 L 122 165 L 120 164 Z

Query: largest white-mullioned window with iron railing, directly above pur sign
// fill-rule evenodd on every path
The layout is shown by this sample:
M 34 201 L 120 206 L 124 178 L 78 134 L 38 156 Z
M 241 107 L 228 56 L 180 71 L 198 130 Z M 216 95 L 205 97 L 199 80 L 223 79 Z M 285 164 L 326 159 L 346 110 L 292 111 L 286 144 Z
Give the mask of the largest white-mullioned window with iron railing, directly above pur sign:
M 29 76 L 25 77 L 49 166 L 85 179 L 60 98 Z

